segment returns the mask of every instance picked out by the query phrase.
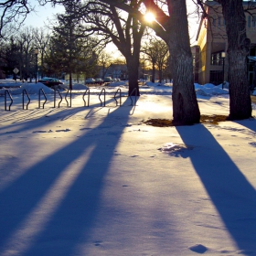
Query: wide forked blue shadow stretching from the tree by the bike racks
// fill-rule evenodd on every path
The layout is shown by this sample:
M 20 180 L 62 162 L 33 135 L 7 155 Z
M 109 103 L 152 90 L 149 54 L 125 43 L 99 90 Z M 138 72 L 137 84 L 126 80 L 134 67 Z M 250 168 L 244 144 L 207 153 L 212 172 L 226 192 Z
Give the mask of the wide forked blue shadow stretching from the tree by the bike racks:
M 122 106 L 109 113 L 96 127 L 101 131 L 97 136 L 94 129 L 89 130 L 1 192 L 1 255 L 9 250 L 18 255 L 73 255 L 80 240 L 88 239 L 101 203 L 103 179 L 132 108 Z M 122 123 L 116 124 L 118 114 L 123 114 Z M 77 176 L 65 176 L 91 147 L 91 156 Z M 67 191 L 65 184 L 69 184 Z M 58 195 L 59 191 L 64 195 Z

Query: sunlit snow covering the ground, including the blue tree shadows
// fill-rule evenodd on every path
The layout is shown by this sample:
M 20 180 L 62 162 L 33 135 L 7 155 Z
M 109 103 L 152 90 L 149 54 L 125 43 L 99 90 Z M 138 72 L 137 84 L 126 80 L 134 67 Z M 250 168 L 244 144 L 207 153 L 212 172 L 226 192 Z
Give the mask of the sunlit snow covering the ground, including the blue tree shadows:
M 123 82 L 92 86 L 85 107 L 78 83 L 56 108 L 42 84 L 0 87 L 0 255 L 256 255 L 254 119 L 144 124 L 172 118 L 171 84 L 146 82 L 135 106 Z M 229 114 L 221 87 L 195 84 L 201 113 Z

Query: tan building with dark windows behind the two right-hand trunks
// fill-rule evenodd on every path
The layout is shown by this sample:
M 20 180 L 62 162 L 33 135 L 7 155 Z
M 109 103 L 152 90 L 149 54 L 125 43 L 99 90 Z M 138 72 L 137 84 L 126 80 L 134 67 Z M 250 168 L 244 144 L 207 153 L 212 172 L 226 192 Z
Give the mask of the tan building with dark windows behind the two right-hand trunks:
M 244 1 L 244 6 L 249 2 Z M 192 53 L 195 59 L 195 81 L 200 84 L 208 82 L 219 84 L 228 80 L 228 40 L 225 19 L 222 16 L 221 5 L 215 1 L 206 1 L 208 18 L 201 18 L 197 31 L 197 47 Z M 256 3 L 255 3 L 256 5 Z M 248 80 L 250 86 L 256 87 L 256 10 L 245 13 L 247 21 L 247 37 L 251 39 L 251 48 L 248 58 Z M 254 15 L 255 14 L 255 15 Z M 197 49 L 197 50 L 196 50 Z

